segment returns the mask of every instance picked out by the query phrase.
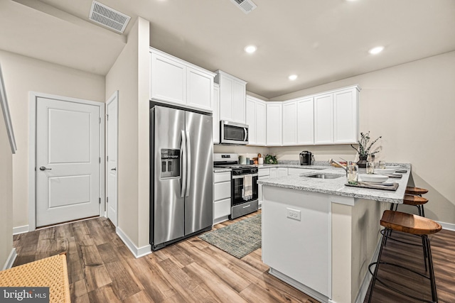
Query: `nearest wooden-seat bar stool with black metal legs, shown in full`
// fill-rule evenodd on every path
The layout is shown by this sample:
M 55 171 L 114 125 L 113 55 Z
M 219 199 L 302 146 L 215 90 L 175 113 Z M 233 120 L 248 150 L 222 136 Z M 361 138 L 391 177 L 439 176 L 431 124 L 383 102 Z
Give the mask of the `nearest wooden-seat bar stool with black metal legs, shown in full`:
M 376 281 L 380 282 L 382 285 L 389 288 L 390 290 L 403 294 L 407 297 L 411 297 L 412 299 L 417 299 L 419 301 L 429 302 L 429 303 L 438 302 L 436 282 L 434 280 L 432 250 L 430 247 L 428 235 L 441 231 L 441 225 L 439 225 L 437 222 L 434 222 L 434 221 L 424 218 L 422 216 L 416 216 L 414 214 L 406 214 L 406 213 L 402 213 L 400 211 L 390 211 L 390 210 L 384 211 L 384 214 L 382 214 L 382 218 L 380 220 L 380 224 L 381 224 L 381 226 L 384 226 L 385 229 L 384 229 L 384 232 L 382 233 L 382 241 L 381 241 L 381 246 L 380 246 L 380 250 L 379 250 L 378 261 L 371 263 L 368 266 L 368 270 L 370 270 L 370 273 L 373 275 L 373 283 L 371 285 L 370 297 L 368 297 L 368 302 L 371 302 L 371 298 L 373 297 L 373 290 L 375 288 Z M 403 233 L 409 233 L 412 235 L 422 237 L 422 241 L 424 241 L 424 245 L 423 245 L 424 255 L 427 256 L 427 258 L 425 258 L 424 260 L 425 260 L 425 264 L 427 263 L 427 260 L 428 260 L 429 276 L 422 275 L 420 272 L 416 272 L 414 270 L 411 270 L 410 268 L 405 268 L 404 266 L 401 266 L 398 264 L 385 263 L 385 262 L 380 261 L 381 255 L 382 255 L 382 249 L 384 248 L 385 239 L 387 238 L 388 231 L 401 231 Z M 385 284 L 385 282 L 382 282 L 380 279 L 378 279 L 378 269 L 379 269 L 380 264 L 397 266 L 399 268 L 409 270 L 410 272 L 413 272 L 414 274 L 417 274 L 417 275 L 420 275 L 422 277 L 426 277 L 427 279 L 429 279 L 431 288 L 432 288 L 432 301 L 413 297 L 410 294 L 406 294 L 405 292 L 402 292 L 393 287 L 390 287 L 389 285 Z M 372 265 L 376 265 L 374 273 L 371 272 Z

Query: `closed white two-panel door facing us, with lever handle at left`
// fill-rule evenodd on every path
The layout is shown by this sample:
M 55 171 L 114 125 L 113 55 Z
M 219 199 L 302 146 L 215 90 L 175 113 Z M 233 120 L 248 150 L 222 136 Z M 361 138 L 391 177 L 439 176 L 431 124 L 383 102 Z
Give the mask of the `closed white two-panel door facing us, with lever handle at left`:
M 38 97 L 36 226 L 100 215 L 100 107 Z

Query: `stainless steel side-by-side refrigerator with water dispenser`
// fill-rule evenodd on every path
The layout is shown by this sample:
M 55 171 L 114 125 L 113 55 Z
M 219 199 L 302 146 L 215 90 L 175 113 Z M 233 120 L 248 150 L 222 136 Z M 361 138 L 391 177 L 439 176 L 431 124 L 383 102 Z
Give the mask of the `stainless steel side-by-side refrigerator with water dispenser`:
M 154 106 L 150 128 L 150 244 L 159 250 L 212 228 L 212 117 Z

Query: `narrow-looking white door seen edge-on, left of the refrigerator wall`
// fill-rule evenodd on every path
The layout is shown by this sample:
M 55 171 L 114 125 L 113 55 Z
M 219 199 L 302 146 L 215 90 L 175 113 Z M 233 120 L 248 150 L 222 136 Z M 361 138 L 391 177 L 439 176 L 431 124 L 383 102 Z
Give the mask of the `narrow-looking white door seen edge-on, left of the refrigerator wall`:
M 117 226 L 117 121 L 118 121 L 118 92 L 107 101 L 107 218 Z

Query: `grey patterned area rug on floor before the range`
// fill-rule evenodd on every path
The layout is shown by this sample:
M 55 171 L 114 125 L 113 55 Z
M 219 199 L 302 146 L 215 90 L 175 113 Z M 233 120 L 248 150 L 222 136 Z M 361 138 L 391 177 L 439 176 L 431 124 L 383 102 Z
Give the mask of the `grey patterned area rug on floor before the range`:
M 261 216 L 257 214 L 215 231 L 208 231 L 199 238 L 236 258 L 243 258 L 261 247 Z

